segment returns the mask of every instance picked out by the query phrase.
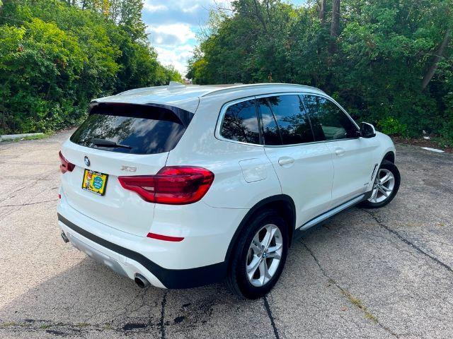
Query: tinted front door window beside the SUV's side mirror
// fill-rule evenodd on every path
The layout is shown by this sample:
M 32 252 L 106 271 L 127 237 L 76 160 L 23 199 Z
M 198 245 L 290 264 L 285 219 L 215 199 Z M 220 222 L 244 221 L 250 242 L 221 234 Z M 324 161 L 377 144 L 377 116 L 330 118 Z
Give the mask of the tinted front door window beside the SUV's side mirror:
M 355 138 L 357 127 L 331 100 L 304 95 L 316 141 Z

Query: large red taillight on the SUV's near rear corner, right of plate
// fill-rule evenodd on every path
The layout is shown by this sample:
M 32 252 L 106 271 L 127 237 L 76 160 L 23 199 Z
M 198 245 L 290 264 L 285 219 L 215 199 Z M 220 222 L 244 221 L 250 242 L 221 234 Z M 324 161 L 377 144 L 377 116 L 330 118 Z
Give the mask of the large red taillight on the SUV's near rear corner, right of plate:
M 168 166 L 156 175 L 118 177 L 121 186 L 137 192 L 144 201 L 183 205 L 195 203 L 205 196 L 214 173 L 202 167 Z

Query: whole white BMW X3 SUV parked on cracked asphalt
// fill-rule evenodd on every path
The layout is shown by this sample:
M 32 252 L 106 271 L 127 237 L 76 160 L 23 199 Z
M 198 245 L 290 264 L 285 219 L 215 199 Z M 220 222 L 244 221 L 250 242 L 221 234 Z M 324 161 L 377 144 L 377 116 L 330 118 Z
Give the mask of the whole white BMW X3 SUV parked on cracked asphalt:
M 91 103 L 59 153 L 65 242 L 140 287 L 255 299 L 289 246 L 400 183 L 391 139 L 303 85 L 181 85 Z

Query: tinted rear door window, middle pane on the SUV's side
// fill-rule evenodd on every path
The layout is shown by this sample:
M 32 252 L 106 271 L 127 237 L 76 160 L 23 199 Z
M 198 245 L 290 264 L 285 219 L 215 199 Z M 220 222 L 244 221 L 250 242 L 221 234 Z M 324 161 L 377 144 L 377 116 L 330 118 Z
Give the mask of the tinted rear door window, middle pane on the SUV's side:
M 267 102 L 267 108 L 264 102 Z M 275 121 L 277 122 L 283 145 L 310 143 L 314 141 L 309 119 L 306 117 L 304 105 L 298 95 L 281 95 L 263 98 L 260 108 L 263 117 L 263 136 L 266 145 L 277 144 L 277 138 L 275 138 L 274 132 Z M 275 119 L 270 119 L 268 112 L 273 112 Z

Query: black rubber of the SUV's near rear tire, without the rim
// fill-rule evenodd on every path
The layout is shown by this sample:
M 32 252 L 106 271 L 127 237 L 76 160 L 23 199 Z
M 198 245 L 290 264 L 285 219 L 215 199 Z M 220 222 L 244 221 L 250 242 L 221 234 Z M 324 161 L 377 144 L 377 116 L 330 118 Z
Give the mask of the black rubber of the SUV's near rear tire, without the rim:
M 246 258 L 248 255 L 248 249 L 252 242 L 255 234 L 265 225 L 273 224 L 278 227 L 282 234 L 282 255 L 280 258 L 280 264 L 275 270 L 273 277 L 261 287 L 253 286 L 246 275 Z M 283 220 L 275 211 L 266 210 L 257 213 L 251 218 L 251 223 L 248 225 L 241 234 L 241 237 L 237 240 L 236 246 L 231 253 L 229 262 L 228 274 L 226 277 L 226 285 L 229 287 L 231 292 L 234 292 L 241 298 L 246 299 L 258 299 L 264 297 L 277 283 L 280 274 L 282 273 L 283 267 L 285 266 L 287 251 L 288 251 L 288 229 Z

